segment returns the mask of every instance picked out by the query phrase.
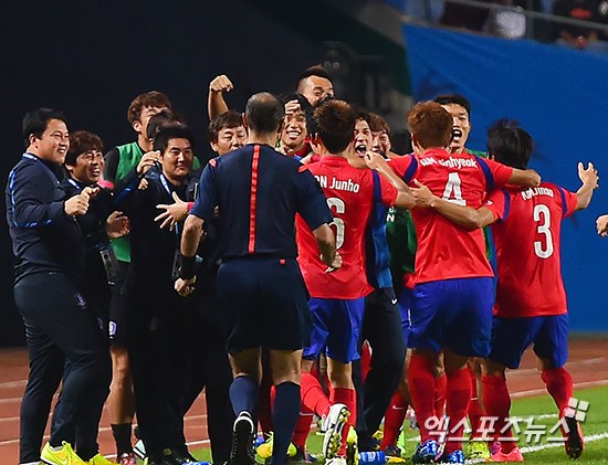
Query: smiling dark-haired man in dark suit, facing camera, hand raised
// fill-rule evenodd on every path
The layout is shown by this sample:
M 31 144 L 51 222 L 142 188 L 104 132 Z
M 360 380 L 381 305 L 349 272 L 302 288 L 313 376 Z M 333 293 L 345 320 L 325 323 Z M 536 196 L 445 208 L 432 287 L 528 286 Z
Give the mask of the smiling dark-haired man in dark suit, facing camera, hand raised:
M 129 358 L 139 435 L 150 463 L 180 465 L 191 457 L 184 440 L 188 309 L 174 292 L 181 223 L 155 222 L 158 204 L 185 200 L 192 168 L 193 137 L 186 126 L 160 128 L 154 152 L 144 155 L 116 188 L 117 204 L 130 220 L 132 261 L 126 278 Z M 155 165 L 160 163 L 160 170 Z M 138 189 L 141 178 L 147 188 Z

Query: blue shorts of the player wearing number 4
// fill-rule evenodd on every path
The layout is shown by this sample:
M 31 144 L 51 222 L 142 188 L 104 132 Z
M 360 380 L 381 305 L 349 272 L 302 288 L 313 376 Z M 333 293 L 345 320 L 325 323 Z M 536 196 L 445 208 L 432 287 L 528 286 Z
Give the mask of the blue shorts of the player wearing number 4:
M 488 357 L 494 288 L 491 277 L 434 281 L 413 287 L 408 347 Z

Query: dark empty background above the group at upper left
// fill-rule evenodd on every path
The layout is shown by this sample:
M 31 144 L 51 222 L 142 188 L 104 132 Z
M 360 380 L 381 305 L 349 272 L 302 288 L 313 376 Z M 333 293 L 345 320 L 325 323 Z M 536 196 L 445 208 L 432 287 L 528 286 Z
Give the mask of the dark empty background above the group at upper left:
M 23 115 L 42 106 L 62 109 L 71 131 L 94 131 L 108 149 L 135 140 L 130 101 L 161 91 L 193 128 L 206 160 L 207 92 L 218 74 L 231 78 L 228 104 L 242 110 L 255 92 L 293 92 L 303 70 L 336 60 L 327 41 L 339 41 L 375 57 L 366 75 L 369 63 L 342 66 L 336 84 L 344 98 L 365 101 L 370 82 L 408 85 L 402 49 L 323 1 L 3 1 L 0 25 L 3 179 L 24 149 Z M 0 260 L 0 346 L 22 345 L 6 222 Z

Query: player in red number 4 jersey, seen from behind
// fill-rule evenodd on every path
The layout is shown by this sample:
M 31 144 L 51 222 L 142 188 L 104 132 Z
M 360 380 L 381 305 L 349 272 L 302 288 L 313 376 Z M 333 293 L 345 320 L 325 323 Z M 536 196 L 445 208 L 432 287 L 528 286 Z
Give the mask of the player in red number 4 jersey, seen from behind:
M 433 194 L 450 202 L 479 208 L 494 187 L 539 182 L 533 170 L 515 170 L 470 154 L 449 154 L 445 147 L 452 137 L 452 117 L 438 103 L 416 105 L 408 114 L 408 124 L 412 142 L 422 155 L 392 159 L 390 167 L 407 182 L 423 182 Z M 431 209 L 413 209 L 411 213 L 418 252 L 408 381 L 421 435 L 413 459 L 463 463 L 461 440 L 471 399 L 467 361 L 490 352 L 493 272 L 481 230 L 468 231 Z M 439 426 L 432 367 L 441 351 L 450 426 L 444 454 L 438 457 L 438 442 L 432 438 Z

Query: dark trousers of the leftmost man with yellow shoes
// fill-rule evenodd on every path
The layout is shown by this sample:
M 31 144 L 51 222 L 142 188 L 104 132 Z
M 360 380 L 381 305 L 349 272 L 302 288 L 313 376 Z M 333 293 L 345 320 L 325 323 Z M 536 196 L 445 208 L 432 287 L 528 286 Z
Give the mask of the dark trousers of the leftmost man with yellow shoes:
M 99 327 L 73 282 L 61 273 L 21 278 L 14 286 L 14 300 L 25 324 L 30 357 L 21 403 L 20 462 L 40 459 L 51 400 L 62 378 L 50 443 L 60 446 L 66 441 L 88 459 L 97 453 L 99 416 L 112 378 L 105 328 Z

